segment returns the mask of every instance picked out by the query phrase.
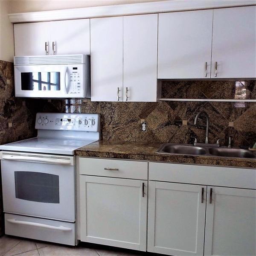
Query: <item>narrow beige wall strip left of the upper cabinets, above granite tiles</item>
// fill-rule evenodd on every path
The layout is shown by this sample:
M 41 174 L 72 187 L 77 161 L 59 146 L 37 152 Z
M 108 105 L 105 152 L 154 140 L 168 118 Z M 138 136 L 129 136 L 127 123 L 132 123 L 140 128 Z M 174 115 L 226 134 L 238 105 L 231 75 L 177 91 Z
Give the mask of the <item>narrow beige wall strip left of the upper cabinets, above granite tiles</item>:
M 9 0 L 0 0 L 0 60 L 13 61 L 14 40 L 13 25 L 9 21 L 11 12 Z

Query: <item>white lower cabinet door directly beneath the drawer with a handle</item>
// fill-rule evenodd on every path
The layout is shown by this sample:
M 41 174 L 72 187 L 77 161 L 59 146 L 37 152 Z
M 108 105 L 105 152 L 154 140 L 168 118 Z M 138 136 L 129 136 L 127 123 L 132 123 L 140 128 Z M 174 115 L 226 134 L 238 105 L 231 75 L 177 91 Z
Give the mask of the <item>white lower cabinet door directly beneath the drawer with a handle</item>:
M 81 241 L 146 250 L 147 181 L 80 175 Z

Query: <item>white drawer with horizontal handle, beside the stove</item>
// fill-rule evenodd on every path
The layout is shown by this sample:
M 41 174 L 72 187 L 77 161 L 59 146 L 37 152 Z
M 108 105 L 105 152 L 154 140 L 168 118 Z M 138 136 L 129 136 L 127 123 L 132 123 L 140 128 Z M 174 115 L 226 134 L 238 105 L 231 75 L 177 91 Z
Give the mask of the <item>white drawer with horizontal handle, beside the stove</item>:
M 79 174 L 147 180 L 148 163 L 78 157 Z

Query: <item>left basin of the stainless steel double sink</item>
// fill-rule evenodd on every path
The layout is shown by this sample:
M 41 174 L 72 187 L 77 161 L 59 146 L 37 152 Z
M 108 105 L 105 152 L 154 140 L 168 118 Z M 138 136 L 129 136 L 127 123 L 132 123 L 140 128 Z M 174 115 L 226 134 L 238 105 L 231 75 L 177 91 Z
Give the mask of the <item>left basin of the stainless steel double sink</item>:
M 206 154 L 206 150 L 204 148 L 192 145 L 174 145 L 171 143 L 165 143 L 161 148 L 157 150 L 157 153 L 204 155 Z

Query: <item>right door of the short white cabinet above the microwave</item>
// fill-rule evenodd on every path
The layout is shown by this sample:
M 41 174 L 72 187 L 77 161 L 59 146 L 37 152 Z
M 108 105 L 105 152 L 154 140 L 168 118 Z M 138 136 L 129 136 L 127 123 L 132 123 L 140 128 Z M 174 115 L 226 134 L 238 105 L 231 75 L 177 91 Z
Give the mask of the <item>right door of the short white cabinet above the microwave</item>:
M 90 19 L 53 21 L 50 26 L 52 55 L 90 55 Z

